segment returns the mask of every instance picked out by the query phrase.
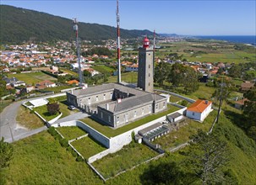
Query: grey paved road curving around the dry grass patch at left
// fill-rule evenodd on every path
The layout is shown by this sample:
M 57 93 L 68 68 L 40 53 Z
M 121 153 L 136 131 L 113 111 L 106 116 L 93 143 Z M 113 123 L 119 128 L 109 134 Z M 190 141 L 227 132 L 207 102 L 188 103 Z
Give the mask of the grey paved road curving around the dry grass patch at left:
M 48 98 L 51 96 L 52 95 L 47 95 L 45 97 L 40 98 Z M 16 115 L 18 114 L 19 107 L 21 106 L 21 104 L 26 101 L 38 98 L 39 97 L 14 102 L 3 109 L 3 112 L 0 114 L 0 138 L 3 137 L 4 140 L 8 142 L 14 142 L 15 140 L 20 140 L 22 138 L 28 137 L 30 135 L 36 134 L 46 129 L 46 127 L 44 126 L 39 129 L 29 130 L 19 126 L 19 124 L 16 122 Z

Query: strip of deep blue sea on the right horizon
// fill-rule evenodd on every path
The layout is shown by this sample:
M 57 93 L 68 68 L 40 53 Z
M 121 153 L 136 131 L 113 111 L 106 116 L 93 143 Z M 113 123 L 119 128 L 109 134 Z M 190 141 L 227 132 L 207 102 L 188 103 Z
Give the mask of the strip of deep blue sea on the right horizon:
M 256 45 L 256 35 L 196 36 L 196 38 L 203 39 L 203 40 L 226 40 L 233 43 Z

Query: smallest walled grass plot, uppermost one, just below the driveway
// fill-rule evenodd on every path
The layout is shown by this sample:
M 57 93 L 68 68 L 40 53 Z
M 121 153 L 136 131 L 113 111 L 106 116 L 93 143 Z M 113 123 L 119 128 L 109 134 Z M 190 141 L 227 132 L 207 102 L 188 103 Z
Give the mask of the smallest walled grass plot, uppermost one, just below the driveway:
M 86 135 L 86 132 L 77 126 L 64 126 L 64 127 L 57 127 L 56 129 L 67 140 L 73 140 L 75 138 L 78 138 L 79 136 Z

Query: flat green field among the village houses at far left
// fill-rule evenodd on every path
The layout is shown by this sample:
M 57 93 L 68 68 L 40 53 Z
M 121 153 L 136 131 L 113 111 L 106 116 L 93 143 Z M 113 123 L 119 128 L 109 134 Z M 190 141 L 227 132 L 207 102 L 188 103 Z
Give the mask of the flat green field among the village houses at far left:
M 29 72 L 29 73 L 17 73 L 17 74 L 8 74 L 8 77 L 16 77 L 20 81 L 24 81 L 26 84 L 36 84 L 38 82 L 49 80 L 57 81 L 57 78 L 46 75 L 43 72 Z

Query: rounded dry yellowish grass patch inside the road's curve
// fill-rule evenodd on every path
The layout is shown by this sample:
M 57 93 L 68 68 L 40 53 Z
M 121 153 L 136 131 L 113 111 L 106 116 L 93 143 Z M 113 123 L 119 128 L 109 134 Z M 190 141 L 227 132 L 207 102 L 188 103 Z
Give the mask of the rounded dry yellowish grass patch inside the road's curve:
M 37 115 L 30 112 L 29 108 L 24 106 L 20 106 L 16 120 L 27 129 L 37 129 L 44 126 L 44 122 Z

